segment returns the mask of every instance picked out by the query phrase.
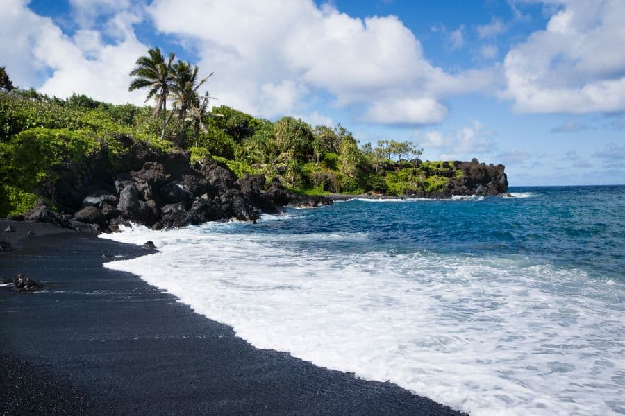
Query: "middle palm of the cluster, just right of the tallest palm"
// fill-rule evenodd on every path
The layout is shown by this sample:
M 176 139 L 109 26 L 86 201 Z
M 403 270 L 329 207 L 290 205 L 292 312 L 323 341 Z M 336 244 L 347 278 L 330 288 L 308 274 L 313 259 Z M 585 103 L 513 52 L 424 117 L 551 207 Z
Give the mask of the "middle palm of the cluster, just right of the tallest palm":
M 178 144 L 181 143 L 185 130 L 185 121 L 188 114 L 192 114 L 194 119 L 197 119 L 199 115 L 200 98 L 198 97 L 197 90 L 201 87 L 213 73 L 210 73 L 205 78 L 197 80 L 197 67 L 193 67 L 189 62 L 183 62 L 178 60 L 178 63 L 172 67 L 175 78 L 170 85 L 170 96 L 174 100 L 172 105 L 174 110 L 171 116 L 176 116 L 176 125 L 178 126 Z M 208 99 L 204 100 L 206 107 L 208 107 Z M 206 111 L 206 107 L 204 111 Z

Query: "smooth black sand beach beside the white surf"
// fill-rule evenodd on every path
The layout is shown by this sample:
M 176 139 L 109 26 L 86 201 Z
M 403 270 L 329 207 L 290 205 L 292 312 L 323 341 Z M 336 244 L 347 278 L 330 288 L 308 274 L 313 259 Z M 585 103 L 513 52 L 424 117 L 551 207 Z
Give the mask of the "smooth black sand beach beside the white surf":
M 36 223 L 3 232 L 0 415 L 458 415 L 391 383 L 251 347 L 102 255 L 149 250 Z M 32 229 L 37 235 L 26 238 Z

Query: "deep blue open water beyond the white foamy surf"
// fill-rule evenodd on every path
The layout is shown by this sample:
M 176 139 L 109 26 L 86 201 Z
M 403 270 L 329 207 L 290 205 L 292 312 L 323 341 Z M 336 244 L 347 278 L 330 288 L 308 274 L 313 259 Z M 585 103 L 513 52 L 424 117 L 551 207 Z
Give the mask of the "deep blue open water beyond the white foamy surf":
M 268 234 L 365 232 L 363 241 L 296 241 L 301 250 L 393 254 L 519 254 L 625 281 L 625 185 L 510 187 L 516 198 L 338 202 L 290 211 L 299 220 L 260 223 Z M 231 232 L 238 232 L 232 229 Z

